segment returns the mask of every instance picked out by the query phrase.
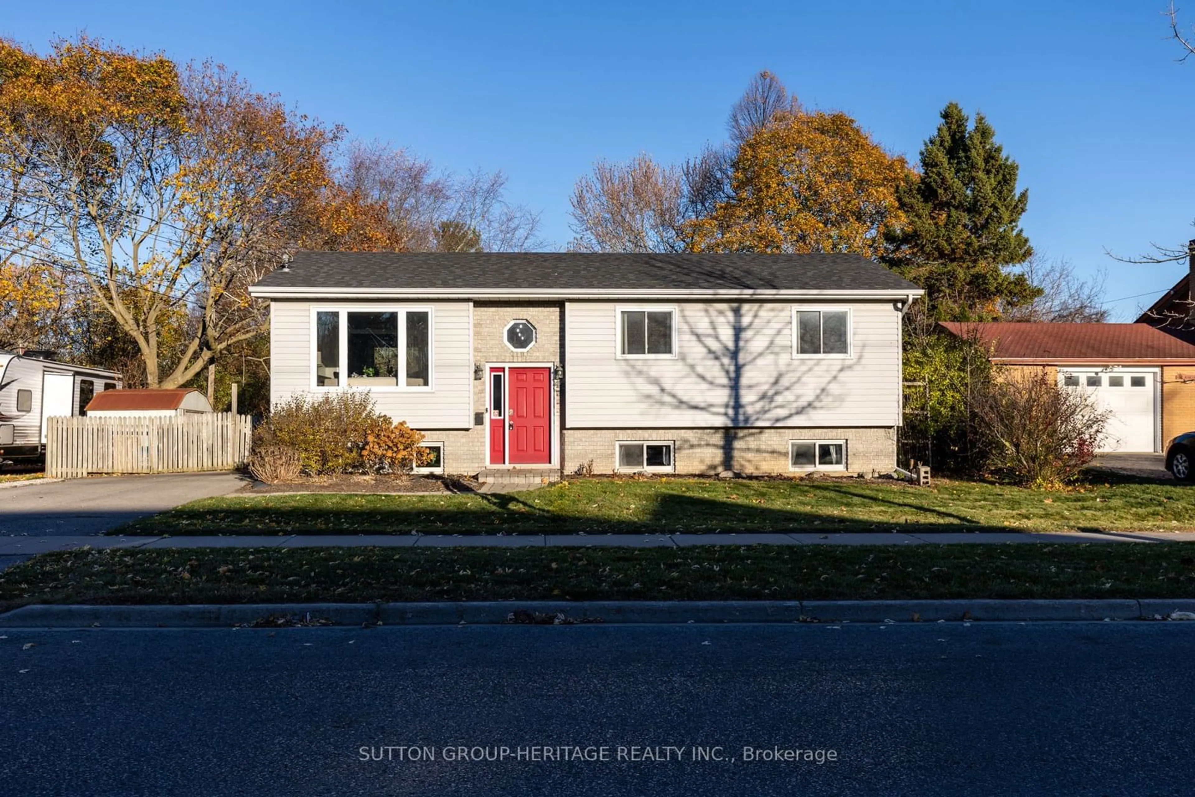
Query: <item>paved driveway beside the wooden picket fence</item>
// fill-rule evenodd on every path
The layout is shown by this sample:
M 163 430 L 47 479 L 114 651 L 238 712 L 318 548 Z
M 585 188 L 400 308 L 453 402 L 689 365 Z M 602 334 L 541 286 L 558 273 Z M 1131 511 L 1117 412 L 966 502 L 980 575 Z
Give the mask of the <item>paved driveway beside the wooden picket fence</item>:
M 0 490 L 0 537 L 102 534 L 198 498 L 235 492 L 237 473 L 163 473 L 67 479 Z

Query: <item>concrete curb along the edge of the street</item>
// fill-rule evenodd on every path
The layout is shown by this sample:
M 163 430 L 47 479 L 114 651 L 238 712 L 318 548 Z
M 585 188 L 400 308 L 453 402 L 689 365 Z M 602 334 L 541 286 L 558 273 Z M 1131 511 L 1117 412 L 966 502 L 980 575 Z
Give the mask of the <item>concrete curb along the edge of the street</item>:
M 1195 600 L 954 601 L 464 601 L 435 603 L 250 603 L 202 606 L 25 606 L 0 627 L 231 627 L 266 618 L 332 625 L 500 625 L 514 612 L 570 623 L 933 623 L 1076 621 L 1169 618 Z M 310 615 L 310 617 L 308 617 Z M 556 623 L 559 615 L 562 623 Z M 527 618 L 529 621 L 531 618 Z

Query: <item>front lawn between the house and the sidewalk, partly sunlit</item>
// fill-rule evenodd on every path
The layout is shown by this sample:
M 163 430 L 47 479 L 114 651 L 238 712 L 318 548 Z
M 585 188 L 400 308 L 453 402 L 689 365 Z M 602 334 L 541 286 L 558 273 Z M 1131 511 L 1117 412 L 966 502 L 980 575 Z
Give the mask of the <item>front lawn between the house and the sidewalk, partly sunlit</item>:
M 588 534 L 1195 529 L 1195 488 L 1122 479 L 1067 492 L 973 482 L 577 479 L 513 495 L 229 496 L 121 534 Z

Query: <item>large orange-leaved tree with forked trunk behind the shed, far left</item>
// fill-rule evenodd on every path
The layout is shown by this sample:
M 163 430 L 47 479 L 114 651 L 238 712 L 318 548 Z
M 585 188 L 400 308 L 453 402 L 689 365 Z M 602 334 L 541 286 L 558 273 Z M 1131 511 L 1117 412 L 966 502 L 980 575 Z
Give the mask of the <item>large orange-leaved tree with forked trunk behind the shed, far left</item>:
M 247 288 L 321 207 L 338 136 L 212 63 L 0 43 L 2 179 L 24 219 L 0 249 L 72 275 L 136 343 L 147 385 L 183 385 L 261 333 Z M 188 335 L 164 347 L 180 308 Z

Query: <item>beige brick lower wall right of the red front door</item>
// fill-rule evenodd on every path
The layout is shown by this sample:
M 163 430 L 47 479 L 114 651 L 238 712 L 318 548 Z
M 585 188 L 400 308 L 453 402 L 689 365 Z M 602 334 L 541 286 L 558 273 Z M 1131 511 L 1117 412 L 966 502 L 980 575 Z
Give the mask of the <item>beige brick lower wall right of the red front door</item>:
M 890 473 L 896 464 L 893 428 L 565 429 L 564 472 L 593 460 L 594 473 L 612 473 L 615 442 L 636 440 L 672 442 L 675 472 L 688 474 L 789 473 L 790 440 L 845 440 L 848 473 Z

